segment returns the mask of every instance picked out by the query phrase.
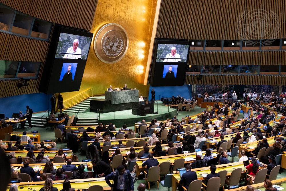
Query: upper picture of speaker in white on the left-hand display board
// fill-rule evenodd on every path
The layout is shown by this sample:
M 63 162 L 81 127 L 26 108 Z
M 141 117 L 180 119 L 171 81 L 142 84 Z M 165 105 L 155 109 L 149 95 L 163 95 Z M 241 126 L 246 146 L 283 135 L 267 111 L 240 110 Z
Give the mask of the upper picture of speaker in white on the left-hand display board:
M 60 33 L 55 58 L 86 59 L 91 37 Z

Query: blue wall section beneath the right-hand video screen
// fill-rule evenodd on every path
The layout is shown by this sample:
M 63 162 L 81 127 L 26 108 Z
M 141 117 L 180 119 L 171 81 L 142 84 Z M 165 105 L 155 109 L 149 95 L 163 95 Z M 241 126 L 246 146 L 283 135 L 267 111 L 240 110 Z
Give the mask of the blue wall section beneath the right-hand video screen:
M 176 97 L 180 95 L 185 98 L 192 98 L 192 86 L 183 85 L 183 86 L 156 86 L 149 88 L 149 96 L 148 99 L 151 99 L 151 91 L 152 88 L 155 90 L 155 100 L 159 100 L 159 96 L 164 97 Z

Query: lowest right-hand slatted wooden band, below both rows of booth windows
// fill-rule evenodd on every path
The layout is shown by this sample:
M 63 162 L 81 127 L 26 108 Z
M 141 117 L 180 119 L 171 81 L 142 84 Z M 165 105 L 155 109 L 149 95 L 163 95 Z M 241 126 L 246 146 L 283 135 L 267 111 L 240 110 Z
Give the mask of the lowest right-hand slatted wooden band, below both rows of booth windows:
M 286 85 L 286 76 L 279 75 L 186 75 L 185 84 Z

